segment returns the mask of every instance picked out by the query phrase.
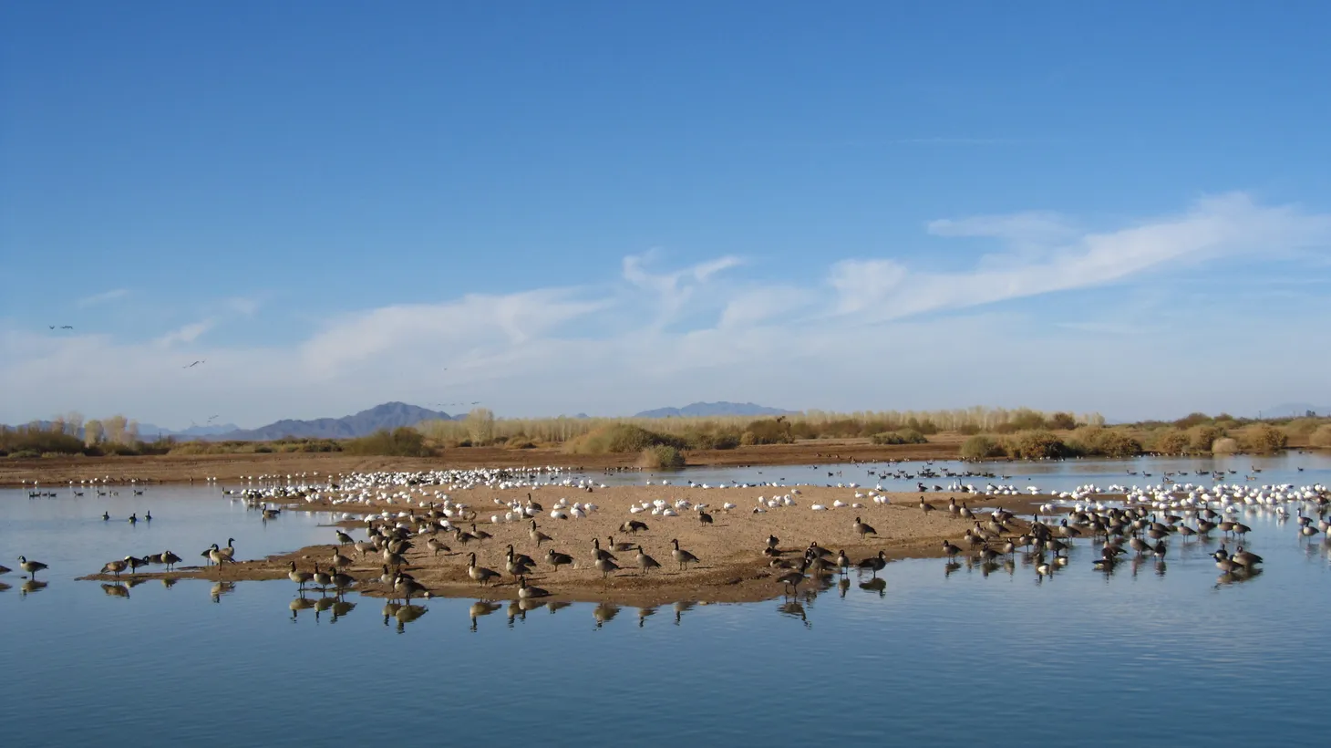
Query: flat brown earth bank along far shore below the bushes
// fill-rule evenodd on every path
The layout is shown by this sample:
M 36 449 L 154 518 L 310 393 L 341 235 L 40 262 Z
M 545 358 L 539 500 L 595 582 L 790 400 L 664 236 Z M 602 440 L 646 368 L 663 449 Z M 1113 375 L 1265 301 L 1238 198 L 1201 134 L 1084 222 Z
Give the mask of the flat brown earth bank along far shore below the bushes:
M 685 453 L 689 467 L 739 467 L 747 465 L 821 465 L 957 459 L 964 437 L 940 435 L 926 445 L 874 445 L 868 439 L 815 439 L 793 445 L 761 445 L 733 450 Z M 249 475 L 295 475 L 415 471 L 470 467 L 551 466 L 586 471 L 635 468 L 636 454 L 575 455 L 559 449 L 504 450 L 459 447 L 439 457 L 355 457 L 341 453 L 269 453 L 217 455 L 145 457 L 52 457 L 0 459 L 0 486 L 68 483 L 106 479 L 108 483 L 188 483 L 216 478 L 238 480 Z

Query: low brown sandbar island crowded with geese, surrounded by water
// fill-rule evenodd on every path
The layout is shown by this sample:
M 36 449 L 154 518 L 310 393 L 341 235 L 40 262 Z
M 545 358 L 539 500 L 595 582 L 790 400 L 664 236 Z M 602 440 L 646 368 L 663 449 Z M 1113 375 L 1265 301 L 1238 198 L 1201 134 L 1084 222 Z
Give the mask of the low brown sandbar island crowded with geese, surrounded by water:
M 437 487 L 431 487 L 437 488 Z M 827 488 L 807 487 L 799 494 L 792 494 L 796 506 L 768 508 L 763 514 L 755 514 L 752 508 L 757 504 L 759 496 L 771 498 L 785 495 L 789 488 L 755 487 L 755 488 L 725 488 L 703 490 L 675 486 L 623 486 L 598 488 L 587 492 L 576 488 L 544 486 L 531 491 L 532 498 L 543 506 L 543 511 L 536 516 L 538 528 L 547 534 L 551 540 L 536 543 L 530 531 L 530 522 L 492 523 L 491 514 L 503 514 L 507 507 L 495 502 L 507 503 L 510 500 L 523 500 L 527 490 L 498 490 L 498 488 L 470 488 L 450 491 L 450 500 L 466 504 L 475 510 L 476 530 L 488 532 L 491 536 L 466 543 L 447 531 L 441 531 L 434 538 L 446 544 L 447 550 L 438 554 L 427 547 L 425 536 L 414 538 L 415 547 L 405 554 L 406 566 L 402 567 L 421 583 L 433 596 L 474 598 L 482 600 L 515 600 L 518 599 L 518 584 L 511 574 L 506 571 L 506 550 L 510 544 L 515 552 L 531 556 L 536 563 L 527 583 L 540 587 L 551 594 L 551 600 L 563 602 L 599 602 L 628 606 L 658 606 L 675 602 L 757 602 L 781 596 L 785 592 L 777 578 L 787 574 L 788 568 L 775 568 L 777 563 L 787 562 L 799 566 L 804 550 L 815 542 L 832 551 L 833 558 L 840 552 L 852 560 L 851 576 L 858 572 L 856 564 L 860 560 L 877 556 L 881 551 L 888 562 L 902 558 L 941 556 L 944 555 L 942 542 L 952 540 L 964 548 L 962 554 L 970 554 L 973 548 L 964 542 L 968 528 L 974 528 L 976 523 L 957 518 L 948 510 L 949 499 L 957 503 L 968 503 L 976 510 L 977 520 L 984 526 L 989 519 L 988 511 L 981 507 L 1004 507 L 1014 514 L 1022 515 L 1008 523 L 1009 534 L 1016 535 L 1029 527 L 1028 519 L 1036 511 L 1036 496 L 977 496 L 969 494 L 926 494 L 930 506 L 937 511 L 921 508 L 921 494 L 882 494 L 888 495 L 892 503 L 877 504 L 868 496 L 855 498 L 856 488 Z M 861 488 L 861 494 L 865 491 Z M 556 502 L 564 498 L 571 504 L 574 502 L 595 503 L 592 511 L 583 519 L 552 519 L 550 511 Z M 696 511 L 679 510 L 679 516 L 652 516 L 650 512 L 631 514 L 630 506 L 644 500 L 664 499 L 673 504 L 677 499 L 688 499 L 692 503 L 707 503 L 712 523 L 704 523 Z M 841 500 L 847 504 L 856 502 L 864 507 L 852 506 L 815 511 L 813 504 L 831 507 L 833 502 Z M 1047 496 L 1044 498 L 1047 500 Z M 733 510 L 723 510 L 723 503 L 737 504 Z M 335 512 L 371 512 L 386 510 L 390 514 L 405 511 L 407 507 L 402 500 L 394 504 L 381 503 L 374 507 L 363 504 L 331 506 L 325 502 L 290 504 L 284 511 L 335 511 Z M 414 512 L 425 510 L 415 508 Z M 256 524 L 261 522 L 260 512 L 256 511 Z M 856 518 L 873 527 L 876 534 L 862 538 L 855 531 Z M 620 526 L 628 519 L 638 519 L 647 523 L 648 528 L 636 534 L 624 532 Z M 281 522 L 282 516 L 269 522 Z M 453 520 L 463 530 L 471 530 L 470 522 Z M 357 540 L 365 539 L 363 520 L 338 522 L 341 527 L 350 528 L 349 532 Z M 335 527 L 329 527 L 329 539 L 335 542 Z M 781 555 L 776 559 L 764 555 L 769 535 L 779 538 L 777 548 Z M 603 575 L 594 564 L 594 540 L 602 548 L 611 550 L 622 568 L 608 575 Z M 672 558 L 671 540 L 679 540 L 679 547 L 697 556 L 696 563 L 687 568 Z M 634 550 L 612 550 L 615 543 L 630 543 Z M 636 547 L 652 556 L 660 568 L 654 568 L 647 574 L 639 571 L 636 562 Z M 1001 540 L 994 542 L 994 547 L 1001 546 Z M 148 580 L 148 579 L 209 579 L 217 583 L 232 583 L 241 580 L 287 579 L 290 562 L 295 562 L 298 570 L 313 571 L 314 564 L 319 570 L 327 571 L 334 563 L 334 554 L 341 552 L 350 559 L 342 570 L 357 579 L 351 590 L 370 596 L 399 598 L 391 586 L 381 579 L 386 574 L 385 560 L 378 552 L 362 556 L 354 546 L 330 543 L 326 546 L 310 546 L 294 552 L 273 555 L 265 559 L 242 560 L 245 539 L 237 538 L 234 544 L 236 563 L 224 566 L 189 566 L 174 572 L 153 574 L 121 574 L 118 580 Z M 571 566 L 551 567 L 546 559 L 550 548 L 574 558 Z M 180 556 L 188 559 L 182 563 L 194 563 L 200 559 L 200 548 L 176 550 Z M 146 552 L 145 548 L 125 548 L 129 555 Z M 154 550 L 156 552 L 156 550 Z M 496 583 L 480 586 L 469 574 L 470 554 L 476 554 L 476 564 L 500 574 Z M 206 554 L 206 551 L 205 551 Z M 112 559 L 108 559 L 112 560 Z M 95 570 L 89 570 L 95 571 Z M 890 580 L 890 564 L 877 574 L 878 578 Z M 860 582 L 869 582 L 874 575 L 869 571 L 860 574 Z M 110 574 L 91 574 L 81 579 L 100 582 L 114 582 L 117 578 Z M 835 578 L 833 578 L 835 579 Z M 825 586 L 827 582 L 823 583 Z M 811 580 L 801 584 L 801 590 L 817 587 L 817 578 L 811 574 Z M 318 590 L 311 590 L 309 595 L 321 595 Z

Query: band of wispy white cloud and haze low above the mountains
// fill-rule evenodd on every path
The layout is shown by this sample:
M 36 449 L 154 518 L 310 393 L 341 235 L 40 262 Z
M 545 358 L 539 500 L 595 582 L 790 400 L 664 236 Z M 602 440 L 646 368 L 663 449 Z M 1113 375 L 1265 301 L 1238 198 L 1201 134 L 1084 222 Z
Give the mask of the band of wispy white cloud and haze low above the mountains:
M 745 277 L 749 264 L 731 256 L 681 268 L 650 252 L 586 286 L 347 311 L 303 339 L 272 346 L 210 342 L 221 321 L 257 323 L 234 299 L 237 315 L 218 313 L 142 342 L 43 335 L 0 321 L 0 389 L 32 394 L 0 403 L 0 421 L 76 407 L 172 425 L 197 419 L 190 409 L 201 399 L 210 403 L 204 417 L 224 413 L 241 423 L 338 415 L 386 399 L 480 399 L 514 415 L 631 413 L 692 399 L 828 409 L 984 402 L 1161 415 L 1240 410 L 1247 401 L 1235 398 L 1255 410 L 1268 405 L 1262 401 L 1324 393 L 1319 373 L 1331 366 L 1331 351 L 1304 350 L 1300 366 L 1266 362 L 1287 355 L 1288 339 L 1322 334 L 1326 294 L 1229 309 L 1225 289 L 1243 280 L 1217 274 L 1223 265 L 1214 262 L 1260 258 L 1271 274 L 1296 274 L 1327 257 L 1328 214 L 1227 194 L 1098 230 L 1040 212 L 949 218 L 925 230 L 977 241 L 958 241 L 948 270 L 885 252 L 831 256 L 821 273 L 775 282 L 759 280 L 773 269 Z M 989 254 L 977 248 L 986 242 L 994 245 Z M 1206 293 L 1179 294 L 1167 283 L 1155 290 L 1157 280 L 1205 273 L 1215 281 Z M 1129 286 L 1143 280 L 1151 282 Z M 1101 303 L 1075 314 L 1028 317 L 1002 303 L 1106 283 L 1153 289 L 1150 307 L 1134 310 L 1142 302 L 1133 293 L 1101 294 Z M 1276 317 L 1284 337 L 1268 331 Z M 1083 365 L 1151 361 L 1178 329 L 1244 339 L 1244 354 L 1227 362 L 1227 379 L 1201 383 L 1153 366 Z M 178 361 L 186 345 L 208 361 L 188 375 Z M 1235 393 L 1226 382 L 1236 379 L 1255 385 Z

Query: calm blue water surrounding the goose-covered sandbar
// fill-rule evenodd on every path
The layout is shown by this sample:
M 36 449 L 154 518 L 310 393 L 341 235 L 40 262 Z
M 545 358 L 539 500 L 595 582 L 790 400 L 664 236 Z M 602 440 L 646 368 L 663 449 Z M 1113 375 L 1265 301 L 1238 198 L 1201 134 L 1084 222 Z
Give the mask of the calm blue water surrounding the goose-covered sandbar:
M 1231 462 L 1239 480 L 1255 465 Z M 1331 483 L 1324 457 L 1256 466 L 1260 483 Z M 1000 470 L 1012 483 L 1029 474 L 1065 490 L 1146 484 L 1179 467 Z M 828 482 L 827 470 L 823 480 L 804 472 Z M 882 590 L 852 575 L 847 588 L 797 604 L 522 612 L 434 599 L 399 622 L 385 618 L 383 600 L 355 595 L 349 611 L 293 615 L 285 580 L 216 595 L 209 582 L 154 580 L 128 598 L 75 582 L 130 551 L 170 548 L 193 563 L 233 536 L 237 555 L 253 558 L 330 532 L 318 527 L 327 518 L 297 512 L 264 523 L 217 490 L 125 494 L 0 492 L 0 563 L 17 567 L 25 552 L 52 567 L 37 575 L 48 587 L 31 594 L 17 571 L 0 578 L 12 586 L 0 591 L 7 745 L 331 745 L 386 735 L 406 745 L 1324 744 L 1331 547 L 1300 540 L 1270 511 L 1244 512 L 1266 570 L 1240 583 L 1218 582 L 1206 555 L 1218 542 L 1174 539 L 1163 566 L 1123 563 L 1110 576 L 1091 570 L 1095 550 L 1082 542 L 1042 583 L 1021 556 L 990 570 L 922 559 L 890 564 Z M 149 508 L 150 526 L 100 519 Z

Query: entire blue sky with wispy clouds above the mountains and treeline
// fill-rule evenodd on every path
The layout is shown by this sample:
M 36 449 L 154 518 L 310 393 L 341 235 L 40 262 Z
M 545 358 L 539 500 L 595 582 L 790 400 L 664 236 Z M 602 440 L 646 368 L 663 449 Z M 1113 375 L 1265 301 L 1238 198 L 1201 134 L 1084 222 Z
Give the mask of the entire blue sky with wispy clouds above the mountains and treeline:
M 1331 401 L 1328 27 L 4 4 L 0 422 Z

